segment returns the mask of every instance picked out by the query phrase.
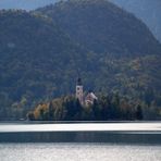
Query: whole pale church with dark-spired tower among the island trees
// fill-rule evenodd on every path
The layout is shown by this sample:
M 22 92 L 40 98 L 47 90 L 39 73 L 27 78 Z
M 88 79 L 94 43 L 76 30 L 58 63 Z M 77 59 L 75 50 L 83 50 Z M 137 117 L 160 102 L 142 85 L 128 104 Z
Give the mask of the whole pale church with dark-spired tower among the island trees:
M 84 95 L 82 78 L 78 78 L 76 82 L 76 98 L 82 106 L 91 106 L 98 99 L 92 91 L 88 91 L 87 96 Z

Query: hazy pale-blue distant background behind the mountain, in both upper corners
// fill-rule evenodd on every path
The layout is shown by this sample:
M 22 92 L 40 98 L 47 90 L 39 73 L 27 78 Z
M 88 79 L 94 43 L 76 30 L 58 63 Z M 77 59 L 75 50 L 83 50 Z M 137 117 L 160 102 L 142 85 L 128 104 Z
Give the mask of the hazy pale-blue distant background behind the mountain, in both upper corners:
M 35 10 L 36 8 L 45 7 L 50 3 L 55 3 L 59 0 L 1 0 L 0 9 L 23 9 Z M 109 0 L 128 12 L 134 13 L 150 28 L 153 35 L 161 41 L 161 21 L 160 21 L 160 0 Z

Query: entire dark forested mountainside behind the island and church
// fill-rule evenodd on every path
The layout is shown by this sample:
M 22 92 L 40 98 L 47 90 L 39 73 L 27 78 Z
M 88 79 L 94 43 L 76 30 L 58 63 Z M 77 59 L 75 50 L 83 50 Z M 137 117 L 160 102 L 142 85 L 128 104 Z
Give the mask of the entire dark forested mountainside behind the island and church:
M 159 109 L 160 49 L 143 22 L 104 0 L 0 11 L 0 119 L 74 94 L 78 75 L 85 90 Z

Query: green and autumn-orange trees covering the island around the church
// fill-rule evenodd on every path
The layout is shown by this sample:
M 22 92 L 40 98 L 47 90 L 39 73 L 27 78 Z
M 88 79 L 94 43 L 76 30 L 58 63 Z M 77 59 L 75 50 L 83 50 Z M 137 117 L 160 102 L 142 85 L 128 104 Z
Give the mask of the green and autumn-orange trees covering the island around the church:
M 74 96 L 53 99 L 38 104 L 27 113 L 30 121 L 135 121 L 144 120 L 139 102 L 115 95 L 100 95 L 92 104 L 83 106 Z

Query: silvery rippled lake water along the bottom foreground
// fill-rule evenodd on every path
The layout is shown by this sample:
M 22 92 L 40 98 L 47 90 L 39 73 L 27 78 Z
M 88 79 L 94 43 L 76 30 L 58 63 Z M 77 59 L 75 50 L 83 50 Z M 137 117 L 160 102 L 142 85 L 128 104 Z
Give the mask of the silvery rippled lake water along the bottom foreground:
M 161 146 L 0 144 L 0 161 L 161 161 Z

